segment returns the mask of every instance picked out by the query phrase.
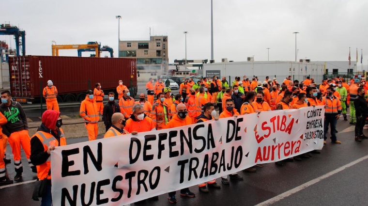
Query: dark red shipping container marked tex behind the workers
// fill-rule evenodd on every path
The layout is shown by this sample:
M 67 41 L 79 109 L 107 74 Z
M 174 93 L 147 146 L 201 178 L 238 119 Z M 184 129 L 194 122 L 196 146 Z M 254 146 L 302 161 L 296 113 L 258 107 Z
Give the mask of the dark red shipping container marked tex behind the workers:
M 105 95 L 116 93 L 120 79 L 132 96 L 137 94 L 135 59 L 17 56 L 9 58 L 9 70 L 12 96 L 20 102 L 40 99 L 47 80 L 57 87 L 59 101 L 83 100 L 97 82 Z

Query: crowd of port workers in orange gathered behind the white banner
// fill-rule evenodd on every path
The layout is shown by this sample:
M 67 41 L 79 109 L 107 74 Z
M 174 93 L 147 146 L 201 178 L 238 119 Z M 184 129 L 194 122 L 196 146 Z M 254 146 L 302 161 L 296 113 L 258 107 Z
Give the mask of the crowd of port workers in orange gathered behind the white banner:
M 324 145 L 327 141 L 327 131 L 330 126 L 331 142 L 340 144 L 336 137 L 336 124 L 342 113 L 345 121 L 348 121 L 346 110 L 350 108 L 350 123 L 355 124 L 356 142 L 367 139 L 363 134 L 363 127 L 368 116 L 366 92 L 368 85 L 365 80 L 352 78 L 346 82 L 343 78 L 325 79 L 317 88 L 313 78 L 307 77 L 303 81 L 291 80 L 291 76 L 278 83 L 276 78 L 266 79 L 261 82 L 257 77 L 241 80 L 236 77 L 229 83 L 225 77 L 218 79 L 203 78 L 198 82 L 193 79 L 184 79 L 180 84 L 179 93 L 174 95 L 171 89 L 166 87 L 162 79 L 154 81 L 152 78 L 146 84 L 147 95 L 142 93 L 139 100 L 135 101 L 130 96 L 129 89 L 119 80 L 116 88 L 118 102 L 115 101 L 115 93 L 108 93 L 108 102 L 103 104 L 104 92 L 101 84 L 96 83 L 94 91 L 88 90 L 86 98 L 80 105 L 80 116 L 84 119 L 85 127 L 90 141 L 96 139 L 98 134 L 97 123 L 100 115 L 106 126 L 104 138 L 137 134 L 165 128 L 181 127 L 196 124 L 218 118 L 226 118 L 262 111 L 299 109 L 308 106 L 325 106 L 324 121 Z M 9 91 L 1 92 L 0 105 L 0 154 L 5 155 L 6 143 L 9 141 L 12 148 L 15 164 L 15 180 L 21 178 L 23 168 L 20 159 L 20 146 L 22 146 L 29 165 L 33 172 L 37 173 L 40 180 L 51 179 L 50 175 L 50 151 L 56 146 L 65 145 L 65 137 L 62 129 L 59 107 L 57 104 L 57 89 L 52 81 L 47 81 L 44 89 L 46 107 L 42 115 L 42 124 L 36 134 L 30 138 L 26 115 L 18 102 L 12 100 Z M 156 99 L 156 100 L 154 100 Z M 215 106 L 218 107 L 219 115 Z M 319 154 L 315 150 L 311 153 Z M 302 154 L 294 158 L 276 162 L 283 166 L 287 161 L 301 161 L 302 158 L 310 158 L 310 153 Z M 5 156 L 0 158 L 0 184 L 10 184 L 5 175 L 5 163 L 10 160 Z M 35 166 L 34 166 L 35 165 Z M 263 167 L 263 164 L 256 165 Z M 243 172 L 256 172 L 256 168 L 248 168 Z M 239 174 L 230 174 L 230 179 L 243 180 Z M 221 178 L 222 184 L 229 184 L 227 176 Z M 215 180 L 199 185 L 199 191 L 208 192 L 208 188 L 221 188 Z M 182 196 L 194 197 L 195 194 L 188 188 L 180 191 Z M 154 197 L 157 198 L 157 197 Z M 169 202 L 175 203 L 175 191 L 169 192 Z M 51 205 L 51 184 L 47 184 L 46 192 L 42 198 L 42 204 Z

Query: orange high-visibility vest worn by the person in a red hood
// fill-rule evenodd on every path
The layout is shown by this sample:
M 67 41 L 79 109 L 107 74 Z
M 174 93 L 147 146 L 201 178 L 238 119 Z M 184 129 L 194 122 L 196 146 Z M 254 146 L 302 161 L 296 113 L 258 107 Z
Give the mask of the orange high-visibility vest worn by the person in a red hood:
M 60 146 L 63 146 L 63 145 L 66 145 L 66 140 L 65 140 L 64 132 L 62 131 L 61 128 L 60 128 L 60 131 L 61 131 Z M 32 138 L 38 138 L 41 141 L 42 145 L 44 145 L 44 152 L 47 151 L 48 146 L 59 146 L 58 140 L 51 133 L 48 133 L 48 132 L 37 131 L 36 134 L 32 136 Z M 51 169 L 50 160 L 51 160 L 51 156 L 48 157 L 46 162 L 36 166 L 37 167 L 37 177 L 39 180 L 43 180 L 46 178 L 51 179 L 51 173 L 49 173 Z

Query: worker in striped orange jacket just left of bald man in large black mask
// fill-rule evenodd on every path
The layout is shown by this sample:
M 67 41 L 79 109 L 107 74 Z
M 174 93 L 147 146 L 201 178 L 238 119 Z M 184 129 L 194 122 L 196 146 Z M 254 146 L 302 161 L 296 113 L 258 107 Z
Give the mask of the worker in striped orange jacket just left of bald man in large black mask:
M 158 99 L 152 106 L 151 117 L 157 130 L 165 128 L 165 125 L 170 121 L 170 111 L 169 108 L 163 104 L 164 100 L 164 93 L 159 93 Z

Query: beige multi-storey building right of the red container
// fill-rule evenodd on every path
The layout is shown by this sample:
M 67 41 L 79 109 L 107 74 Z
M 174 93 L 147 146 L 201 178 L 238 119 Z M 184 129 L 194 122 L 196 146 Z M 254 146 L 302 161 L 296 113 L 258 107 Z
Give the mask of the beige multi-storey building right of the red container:
M 137 59 L 138 82 L 167 75 L 169 69 L 168 36 L 151 36 L 150 40 L 120 41 L 120 58 Z

